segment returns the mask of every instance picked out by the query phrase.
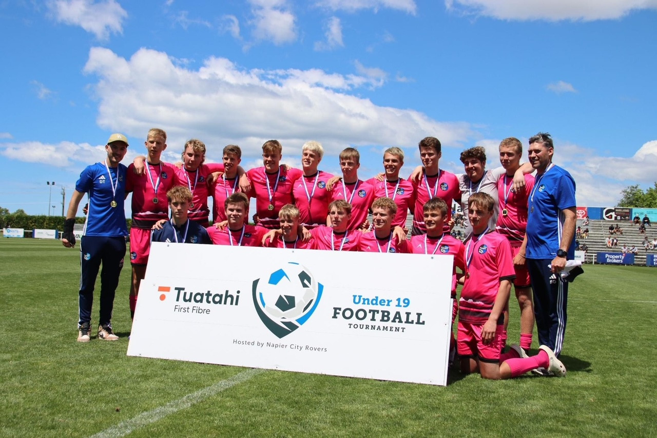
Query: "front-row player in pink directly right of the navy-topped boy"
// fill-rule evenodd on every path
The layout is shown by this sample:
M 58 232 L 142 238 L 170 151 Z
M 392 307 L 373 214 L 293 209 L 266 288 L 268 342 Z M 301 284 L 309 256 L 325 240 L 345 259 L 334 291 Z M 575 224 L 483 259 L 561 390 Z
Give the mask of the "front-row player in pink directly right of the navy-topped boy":
M 231 194 L 224 202 L 228 226 L 223 229 L 208 227 L 215 245 L 262 246 L 267 229 L 245 223 L 248 217 L 248 198 L 242 192 Z

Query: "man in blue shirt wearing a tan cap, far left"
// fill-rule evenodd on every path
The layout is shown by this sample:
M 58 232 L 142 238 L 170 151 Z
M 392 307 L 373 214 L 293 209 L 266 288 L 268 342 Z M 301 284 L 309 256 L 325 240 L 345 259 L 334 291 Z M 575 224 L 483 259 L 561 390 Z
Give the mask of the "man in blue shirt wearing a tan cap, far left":
M 91 305 L 93 289 L 102 262 L 101 305 L 98 338 L 116 341 L 112 331 L 112 309 L 119 275 L 124 264 L 125 236 L 125 165 L 119 164 L 127 151 L 127 137 L 112 134 L 105 145 L 106 158 L 87 166 L 76 183 L 76 190 L 68 204 L 64 219 L 62 244 L 66 248 L 76 246 L 73 226 L 79 202 L 89 194 L 87 220 L 80 240 L 81 278 L 79 289 L 78 341 L 91 340 Z

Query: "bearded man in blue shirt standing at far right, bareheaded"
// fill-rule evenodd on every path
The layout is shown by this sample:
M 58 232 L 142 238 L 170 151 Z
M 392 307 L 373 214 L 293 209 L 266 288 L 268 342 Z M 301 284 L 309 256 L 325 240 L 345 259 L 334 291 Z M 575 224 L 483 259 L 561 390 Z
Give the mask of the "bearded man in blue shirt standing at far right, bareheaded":
M 527 232 L 520 254 L 527 259 L 532 280 L 539 343 L 558 356 L 566 332 L 568 300 L 568 282 L 560 272 L 566 260 L 575 255 L 575 181 L 553 164 L 554 145 L 549 134 L 538 133 L 529 143 L 536 180 L 529 196 Z

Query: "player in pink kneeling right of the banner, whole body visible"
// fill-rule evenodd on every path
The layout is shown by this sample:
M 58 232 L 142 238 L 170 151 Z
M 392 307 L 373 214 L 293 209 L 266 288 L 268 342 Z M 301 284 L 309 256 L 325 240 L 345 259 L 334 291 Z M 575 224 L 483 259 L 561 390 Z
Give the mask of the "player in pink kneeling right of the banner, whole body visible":
M 468 199 L 472 235 L 465 243 L 467 269 L 459 301 L 457 349 L 461 371 L 478 370 L 483 378 L 497 380 L 543 367 L 556 376 L 565 376 L 566 368 L 546 345 L 541 345 L 541 351 L 532 357 L 527 357 L 518 345 L 512 345 L 504 355 L 500 353 L 502 312 L 515 273 L 509 240 L 488 228 L 494 205 L 486 193 L 474 193 Z

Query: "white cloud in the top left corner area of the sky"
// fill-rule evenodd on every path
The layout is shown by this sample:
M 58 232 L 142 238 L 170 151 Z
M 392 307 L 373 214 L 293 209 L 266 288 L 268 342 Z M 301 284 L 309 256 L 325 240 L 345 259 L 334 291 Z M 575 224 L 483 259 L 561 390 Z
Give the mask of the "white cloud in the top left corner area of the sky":
M 48 9 L 58 22 L 80 26 L 100 40 L 110 33 L 123 33 L 127 12 L 116 0 L 51 0 Z

